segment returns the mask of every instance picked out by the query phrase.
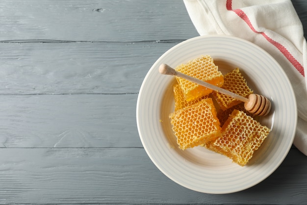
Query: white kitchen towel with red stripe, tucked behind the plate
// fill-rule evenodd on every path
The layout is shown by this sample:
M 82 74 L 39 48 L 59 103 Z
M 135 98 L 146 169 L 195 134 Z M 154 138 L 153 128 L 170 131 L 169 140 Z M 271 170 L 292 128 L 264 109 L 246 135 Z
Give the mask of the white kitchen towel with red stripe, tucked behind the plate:
M 236 36 L 273 56 L 295 92 L 298 125 L 294 145 L 307 155 L 307 43 L 290 0 L 183 0 L 200 35 Z

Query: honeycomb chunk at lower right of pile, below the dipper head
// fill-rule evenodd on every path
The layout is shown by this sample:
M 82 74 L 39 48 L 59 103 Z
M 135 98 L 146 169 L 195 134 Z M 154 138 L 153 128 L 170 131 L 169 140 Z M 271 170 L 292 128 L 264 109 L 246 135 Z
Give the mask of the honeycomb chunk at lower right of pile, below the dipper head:
M 270 129 L 242 111 L 234 110 L 222 127 L 222 136 L 205 146 L 245 166 L 259 148 Z

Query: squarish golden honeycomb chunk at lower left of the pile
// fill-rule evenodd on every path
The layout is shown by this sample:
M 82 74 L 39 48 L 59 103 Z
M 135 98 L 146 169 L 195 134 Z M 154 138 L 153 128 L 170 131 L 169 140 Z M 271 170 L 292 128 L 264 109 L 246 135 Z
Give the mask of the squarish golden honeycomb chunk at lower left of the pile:
M 221 135 L 221 127 L 211 98 L 170 114 L 180 149 L 199 146 Z

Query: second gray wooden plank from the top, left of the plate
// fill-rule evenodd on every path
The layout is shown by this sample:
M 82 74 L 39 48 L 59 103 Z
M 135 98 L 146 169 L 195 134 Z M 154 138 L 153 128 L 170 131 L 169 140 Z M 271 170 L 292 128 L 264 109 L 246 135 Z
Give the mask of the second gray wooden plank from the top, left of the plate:
M 137 93 L 178 43 L 0 43 L 0 94 Z

